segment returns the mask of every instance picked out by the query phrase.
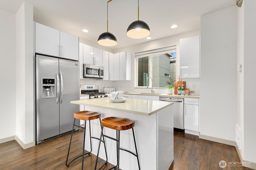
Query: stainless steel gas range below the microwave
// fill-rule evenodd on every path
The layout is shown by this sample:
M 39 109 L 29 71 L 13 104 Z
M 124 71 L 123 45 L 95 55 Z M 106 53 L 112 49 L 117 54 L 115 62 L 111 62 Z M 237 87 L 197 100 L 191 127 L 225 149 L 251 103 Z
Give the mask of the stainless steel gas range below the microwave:
M 82 85 L 80 91 L 81 94 L 89 94 L 90 99 L 108 97 L 105 93 L 99 92 L 98 85 Z

